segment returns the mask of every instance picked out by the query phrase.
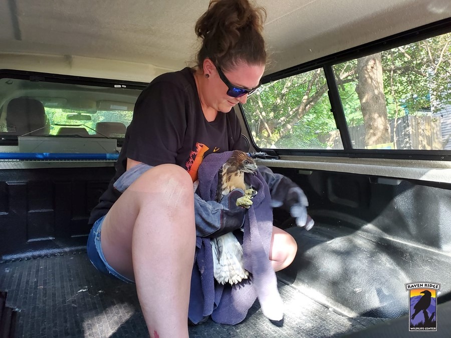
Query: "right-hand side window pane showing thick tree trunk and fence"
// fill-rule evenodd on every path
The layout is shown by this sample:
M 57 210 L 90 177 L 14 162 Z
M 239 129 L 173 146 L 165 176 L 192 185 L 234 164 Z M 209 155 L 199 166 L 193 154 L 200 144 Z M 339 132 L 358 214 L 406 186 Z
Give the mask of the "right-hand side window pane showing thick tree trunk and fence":
M 353 148 L 451 149 L 450 33 L 333 69 Z

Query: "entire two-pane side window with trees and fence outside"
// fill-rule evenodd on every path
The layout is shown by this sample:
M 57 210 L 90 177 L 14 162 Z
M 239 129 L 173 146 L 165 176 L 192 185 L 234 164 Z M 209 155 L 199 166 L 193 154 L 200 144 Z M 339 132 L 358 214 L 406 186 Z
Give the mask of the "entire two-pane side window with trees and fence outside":
M 451 150 L 451 33 L 332 66 L 354 149 Z M 255 144 L 343 149 L 322 68 L 263 85 L 243 106 Z

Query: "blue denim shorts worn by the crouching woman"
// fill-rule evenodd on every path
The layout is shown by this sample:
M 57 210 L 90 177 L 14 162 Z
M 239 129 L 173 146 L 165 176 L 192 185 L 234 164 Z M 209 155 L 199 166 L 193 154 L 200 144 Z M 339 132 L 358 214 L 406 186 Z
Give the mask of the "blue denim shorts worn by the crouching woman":
M 128 279 L 127 277 L 121 275 L 119 272 L 113 269 L 110 264 L 107 263 L 105 256 L 103 255 L 102 246 L 100 245 L 100 230 L 105 216 L 100 217 L 94 223 L 91 232 L 89 233 L 87 244 L 89 260 L 100 272 L 103 272 L 107 275 L 113 275 L 114 277 L 127 283 L 134 283 L 133 280 Z

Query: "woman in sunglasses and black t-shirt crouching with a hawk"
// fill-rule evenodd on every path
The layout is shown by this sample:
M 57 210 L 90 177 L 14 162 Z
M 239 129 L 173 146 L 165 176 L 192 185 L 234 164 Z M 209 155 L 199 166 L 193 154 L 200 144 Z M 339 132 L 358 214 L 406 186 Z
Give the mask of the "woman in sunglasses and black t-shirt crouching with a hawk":
M 92 211 L 89 257 L 99 270 L 136 283 L 151 336 L 188 336 L 193 181 L 204 156 L 242 148 L 233 107 L 260 85 L 265 18 L 248 0 L 210 3 L 195 26 L 202 39 L 197 66 L 159 76 L 141 93 L 117 173 Z M 153 167 L 120 194 L 113 183 L 141 162 Z M 296 250 L 295 240 L 274 228 L 269 258 L 276 271 Z

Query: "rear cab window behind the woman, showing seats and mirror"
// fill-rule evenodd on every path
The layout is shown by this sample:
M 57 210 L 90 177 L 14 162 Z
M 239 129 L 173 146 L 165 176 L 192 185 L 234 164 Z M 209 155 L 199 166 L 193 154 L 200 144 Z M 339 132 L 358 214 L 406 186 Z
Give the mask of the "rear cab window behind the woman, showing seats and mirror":
M 0 79 L 0 137 L 109 137 L 122 139 L 137 89 L 121 85 Z

